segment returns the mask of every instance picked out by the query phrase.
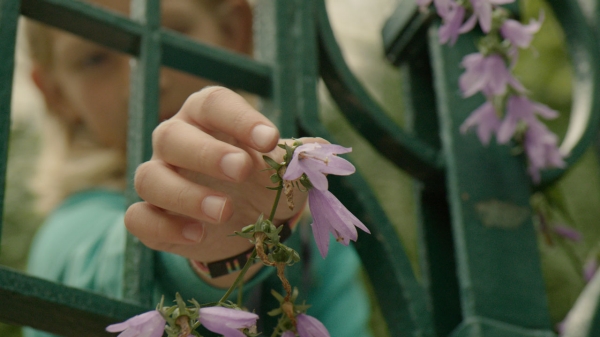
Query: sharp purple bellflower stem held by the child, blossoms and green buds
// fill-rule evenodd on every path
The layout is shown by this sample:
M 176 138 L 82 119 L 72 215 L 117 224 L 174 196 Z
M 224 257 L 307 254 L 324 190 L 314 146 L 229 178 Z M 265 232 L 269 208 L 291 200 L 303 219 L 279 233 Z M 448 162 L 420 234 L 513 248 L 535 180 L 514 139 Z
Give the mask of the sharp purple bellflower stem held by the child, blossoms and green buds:
M 308 202 L 313 216 L 312 229 L 323 257 L 327 255 L 329 249 L 329 233 L 344 245 L 348 245 L 350 240 L 357 240 L 356 227 L 369 233 L 367 227 L 328 191 L 327 174 L 354 173 L 354 166 L 337 156 L 337 154 L 348 153 L 352 149 L 333 144 L 302 144 L 298 141 L 293 146 L 281 145 L 280 147 L 286 151 L 282 163 L 264 157 L 267 164 L 275 170 L 271 181 L 278 184 L 277 187 L 270 188 L 277 191 L 271 215 L 266 219 L 261 214 L 256 223 L 235 233 L 249 239 L 255 248 L 236 281 L 216 306 L 200 306 L 198 302 L 192 300 L 190 302 L 193 305 L 188 307 L 177 294 L 177 305 L 164 307 L 161 301 L 156 310 L 110 325 L 106 328 L 107 331 L 122 331 L 120 337 L 160 337 L 165 332 L 169 337 L 192 337 L 199 336 L 196 329 L 202 325 L 225 337 L 257 336 L 258 315 L 239 309 L 238 306 L 227 302 L 227 297 L 240 285 L 252 260 L 258 259 L 264 265 L 277 269 L 277 276 L 286 293 L 283 296 L 275 291 L 272 292 L 280 304 L 279 308 L 269 312 L 269 315 L 280 316 L 273 335 L 329 337 L 329 332 L 323 323 L 306 314 L 308 305 L 295 304 L 298 290 L 296 288 L 292 290 L 285 276 L 285 268 L 298 262 L 300 255 L 281 242 L 280 233 L 283 225 L 275 226 L 272 220 L 283 191 L 288 197 L 288 207 L 294 207 L 292 194 L 296 186 L 302 192 L 308 191 Z

